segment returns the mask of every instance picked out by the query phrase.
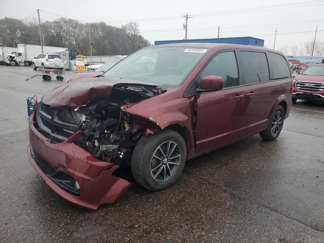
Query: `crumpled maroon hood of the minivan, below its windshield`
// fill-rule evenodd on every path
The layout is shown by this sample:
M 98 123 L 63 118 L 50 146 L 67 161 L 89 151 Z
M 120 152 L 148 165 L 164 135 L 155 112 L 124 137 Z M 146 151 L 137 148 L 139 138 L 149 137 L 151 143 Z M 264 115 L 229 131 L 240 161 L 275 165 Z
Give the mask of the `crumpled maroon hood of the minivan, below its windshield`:
M 115 84 L 158 86 L 158 84 L 154 83 L 145 82 L 145 84 L 142 84 L 139 81 L 124 78 L 87 78 L 54 88 L 44 95 L 42 102 L 55 107 L 66 106 L 76 108 L 86 105 L 88 101 L 102 100 L 109 96 L 112 86 Z

